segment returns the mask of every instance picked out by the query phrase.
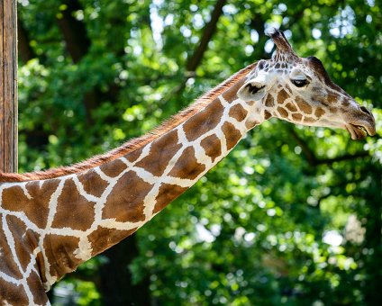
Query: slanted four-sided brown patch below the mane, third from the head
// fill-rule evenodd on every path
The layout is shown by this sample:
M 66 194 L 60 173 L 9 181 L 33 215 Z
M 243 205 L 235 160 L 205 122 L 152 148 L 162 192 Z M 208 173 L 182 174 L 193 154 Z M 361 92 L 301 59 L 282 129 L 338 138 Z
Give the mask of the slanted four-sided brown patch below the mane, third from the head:
M 182 147 L 177 143 L 177 130 L 171 130 L 159 139 L 155 140 L 150 148 L 150 154 L 144 157 L 136 166 L 140 166 L 153 175 L 163 175 L 169 160 Z

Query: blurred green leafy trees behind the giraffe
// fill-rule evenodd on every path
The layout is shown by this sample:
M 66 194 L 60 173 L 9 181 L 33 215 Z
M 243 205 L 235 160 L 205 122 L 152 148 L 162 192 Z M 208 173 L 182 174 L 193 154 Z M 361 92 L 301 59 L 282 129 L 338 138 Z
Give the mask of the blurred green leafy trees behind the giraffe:
M 377 136 L 272 119 L 53 305 L 382 305 L 379 0 L 18 0 L 20 172 L 145 133 L 269 58 L 268 28 L 373 110 Z

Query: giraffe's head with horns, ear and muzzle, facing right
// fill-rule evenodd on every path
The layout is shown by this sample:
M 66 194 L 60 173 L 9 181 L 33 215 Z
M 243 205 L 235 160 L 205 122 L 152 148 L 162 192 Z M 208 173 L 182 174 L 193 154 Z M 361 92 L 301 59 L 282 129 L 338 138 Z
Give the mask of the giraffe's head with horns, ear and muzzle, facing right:
M 335 85 L 318 58 L 300 58 L 281 31 L 270 37 L 277 50 L 269 60 L 259 60 L 250 72 L 238 97 L 252 104 L 267 120 L 286 121 L 350 132 L 352 139 L 376 133 L 371 112 L 360 106 L 340 86 Z

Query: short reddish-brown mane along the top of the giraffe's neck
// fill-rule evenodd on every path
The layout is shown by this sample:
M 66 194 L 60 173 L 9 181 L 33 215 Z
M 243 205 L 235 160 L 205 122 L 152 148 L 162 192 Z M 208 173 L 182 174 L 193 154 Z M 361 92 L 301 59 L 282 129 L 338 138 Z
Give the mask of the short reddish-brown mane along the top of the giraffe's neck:
M 256 63 L 241 69 L 235 75 L 231 76 L 228 80 L 225 80 L 220 85 L 215 86 L 212 90 L 202 95 L 196 100 L 195 103 L 191 104 L 185 110 L 178 112 L 176 115 L 172 116 L 168 121 L 163 122 L 155 130 L 150 131 L 149 133 L 141 136 L 140 138 L 131 139 L 125 142 L 121 147 L 114 148 L 113 150 L 103 155 L 90 157 L 89 159 L 86 159 L 85 161 L 72 166 L 61 166 L 57 168 L 48 169 L 46 171 L 38 171 L 24 174 L 0 172 L 0 183 L 45 180 L 63 175 L 72 175 L 90 169 L 92 167 L 100 166 L 118 157 L 122 157 L 123 155 L 131 153 L 132 151 L 146 145 L 150 141 L 158 139 L 159 136 L 165 134 L 169 130 L 172 130 L 180 123 L 186 121 L 196 112 L 202 110 L 205 107 L 205 105 L 214 101 L 214 99 L 219 94 L 222 94 L 226 89 L 237 83 L 243 76 L 246 76 L 255 66 Z

